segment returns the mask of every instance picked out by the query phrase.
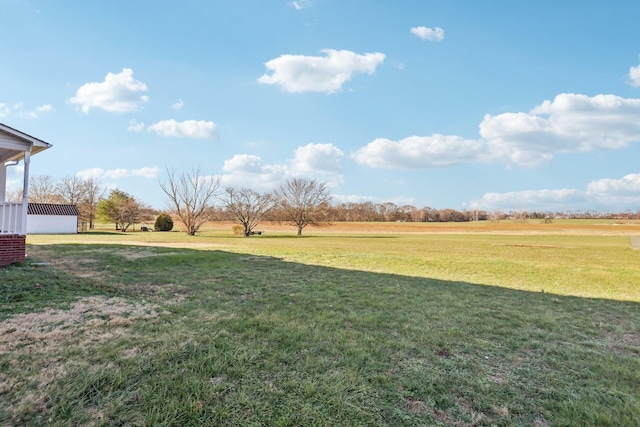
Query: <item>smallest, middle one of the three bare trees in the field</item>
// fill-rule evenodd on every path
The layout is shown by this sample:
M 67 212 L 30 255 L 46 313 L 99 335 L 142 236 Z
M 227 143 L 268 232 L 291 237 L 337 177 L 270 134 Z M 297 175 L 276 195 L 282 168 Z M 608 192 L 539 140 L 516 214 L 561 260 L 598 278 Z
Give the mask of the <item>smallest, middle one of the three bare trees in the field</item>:
M 251 236 L 253 229 L 273 207 L 271 194 L 260 194 L 249 188 L 226 188 L 223 202 L 227 212 L 244 227 L 245 237 Z

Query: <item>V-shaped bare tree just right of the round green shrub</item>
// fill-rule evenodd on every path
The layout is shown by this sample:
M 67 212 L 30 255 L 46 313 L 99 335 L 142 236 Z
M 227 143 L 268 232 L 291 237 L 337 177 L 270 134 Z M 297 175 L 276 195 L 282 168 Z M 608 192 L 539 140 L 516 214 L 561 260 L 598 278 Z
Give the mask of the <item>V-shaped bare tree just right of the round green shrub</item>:
M 179 176 L 167 169 L 167 175 L 168 182 L 160 183 L 160 188 L 169 199 L 169 211 L 184 224 L 187 234 L 193 236 L 210 219 L 220 177 L 203 176 L 200 169 Z

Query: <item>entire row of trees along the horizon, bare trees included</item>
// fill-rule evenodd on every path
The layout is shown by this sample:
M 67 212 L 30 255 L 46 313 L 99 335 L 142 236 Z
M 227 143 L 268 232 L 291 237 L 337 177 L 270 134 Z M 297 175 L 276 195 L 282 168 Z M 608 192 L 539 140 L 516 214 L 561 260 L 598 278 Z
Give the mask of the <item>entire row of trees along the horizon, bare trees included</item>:
M 639 218 L 638 212 L 598 211 L 504 211 L 417 208 L 395 203 L 332 203 L 325 183 L 313 179 L 293 178 L 274 191 L 258 192 L 251 188 L 220 187 L 220 178 L 205 176 L 200 170 L 177 174 L 167 170 L 167 179 L 159 183 L 166 197 L 165 214 L 182 222 L 185 231 L 195 235 L 207 221 L 230 220 L 242 227 L 245 236 L 254 234 L 262 221 L 279 221 L 296 227 L 302 235 L 308 225 L 322 226 L 331 222 L 466 222 L 512 219 L 554 218 Z M 29 202 L 73 204 L 80 212 L 79 221 L 90 229 L 96 221 L 110 222 L 116 230 L 149 223 L 162 213 L 134 196 L 106 188 L 95 178 L 69 176 L 59 181 L 48 175 L 29 179 Z M 8 200 L 21 200 L 20 192 L 8 194 Z

